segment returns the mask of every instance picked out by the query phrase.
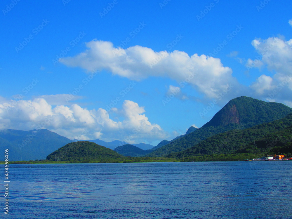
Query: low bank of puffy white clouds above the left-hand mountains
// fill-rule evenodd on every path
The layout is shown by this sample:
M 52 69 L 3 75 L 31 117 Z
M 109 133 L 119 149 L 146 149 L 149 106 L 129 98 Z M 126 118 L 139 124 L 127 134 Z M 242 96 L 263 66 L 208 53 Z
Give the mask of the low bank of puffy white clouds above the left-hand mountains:
M 6 101 L 0 104 L 0 129 L 32 130 L 47 128 L 69 139 L 105 141 L 121 140 L 129 143 L 157 141 L 169 138 L 158 125 L 146 117 L 144 107 L 125 100 L 116 109 L 124 120 L 114 121 L 102 108 L 88 110 L 77 104 L 52 107 L 44 98 Z

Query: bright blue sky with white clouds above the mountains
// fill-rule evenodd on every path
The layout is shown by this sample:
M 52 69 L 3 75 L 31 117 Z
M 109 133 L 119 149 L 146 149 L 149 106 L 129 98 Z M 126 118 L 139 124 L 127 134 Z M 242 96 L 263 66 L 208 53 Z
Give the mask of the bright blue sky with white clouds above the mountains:
M 2 1 L 0 129 L 156 145 L 229 100 L 292 107 L 291 1 Z

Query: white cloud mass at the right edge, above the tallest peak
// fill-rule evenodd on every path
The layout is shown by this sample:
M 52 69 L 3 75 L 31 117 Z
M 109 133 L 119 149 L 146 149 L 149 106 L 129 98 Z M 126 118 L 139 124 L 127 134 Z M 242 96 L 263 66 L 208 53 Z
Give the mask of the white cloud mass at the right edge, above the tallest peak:
M 260 65 L 265 65 L 272 76 L 261 75 L 250 87 L 269 101 L 287 103 L 292 95 L 292 39 L 254 39 L 252 45 L 261 57 Z

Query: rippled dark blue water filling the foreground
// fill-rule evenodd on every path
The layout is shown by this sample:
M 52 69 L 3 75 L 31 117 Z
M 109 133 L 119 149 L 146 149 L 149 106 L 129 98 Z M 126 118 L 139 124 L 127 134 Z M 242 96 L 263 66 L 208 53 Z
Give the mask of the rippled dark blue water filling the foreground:
M 292 161 L 10 167 L 3 218 L 292 218 Z

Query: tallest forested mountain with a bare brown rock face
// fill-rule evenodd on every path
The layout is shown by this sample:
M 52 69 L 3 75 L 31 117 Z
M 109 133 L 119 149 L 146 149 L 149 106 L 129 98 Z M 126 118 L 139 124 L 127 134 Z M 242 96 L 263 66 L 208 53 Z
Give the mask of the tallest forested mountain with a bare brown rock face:
M 150 157 L 166 156 L 197 145 L 202 140 L 218 133 L 233 129 L 245 129 L 252 126 L 281 119 L 292 112 L 290 107 L 281 103 L 264 102 L 250 97 L 238 97 L 230 100 L 204 126 L 194 132 L 147 154 Z

